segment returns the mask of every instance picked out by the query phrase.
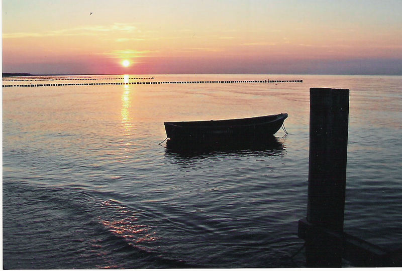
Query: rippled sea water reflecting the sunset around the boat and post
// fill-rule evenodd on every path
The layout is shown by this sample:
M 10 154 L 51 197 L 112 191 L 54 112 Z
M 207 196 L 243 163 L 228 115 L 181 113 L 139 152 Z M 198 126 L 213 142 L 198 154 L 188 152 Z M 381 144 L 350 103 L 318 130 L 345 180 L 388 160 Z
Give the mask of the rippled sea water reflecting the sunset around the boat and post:
M 304 266 L 303 250 L 291 255 L 304 243 L 310 87 L 350 89 L 345 231 L 399 247 L 402 77 L 151 76 L 126 80 L 304 82 L 3 88 L 5 268 Z M 270 148 L 158 145 L 163 121 L 280 112 L 289 134 Z

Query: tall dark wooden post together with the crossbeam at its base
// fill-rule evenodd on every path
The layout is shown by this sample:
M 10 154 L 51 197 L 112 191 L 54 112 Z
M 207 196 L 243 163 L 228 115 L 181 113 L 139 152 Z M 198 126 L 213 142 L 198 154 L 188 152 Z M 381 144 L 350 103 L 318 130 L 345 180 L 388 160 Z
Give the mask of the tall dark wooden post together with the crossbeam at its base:
M 343 231 L 349 89 L 310 88 L 307 217 L 298 221 L 307 267 L 396 266 L 402 251 L 387 251 Z

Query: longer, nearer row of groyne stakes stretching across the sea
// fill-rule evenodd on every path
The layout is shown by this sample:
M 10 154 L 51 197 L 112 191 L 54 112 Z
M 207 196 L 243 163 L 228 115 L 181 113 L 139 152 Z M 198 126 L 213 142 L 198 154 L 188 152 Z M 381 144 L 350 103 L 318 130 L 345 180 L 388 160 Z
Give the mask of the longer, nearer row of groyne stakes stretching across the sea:
M 106 78 L 111 80 L 110 78 Z M 118 78 L 122 79 L 122 78 Z M 147 78 L 149 79 L 149 78 Z M 150 78 L 152 79 L 152 78 Z M 65 80 L 65 79 L 58 79 Z M 78 79 L 74 79 L 78 80 Z M 85 79 L 85 80 L 99 80 L 99 79 Z M 22 80 L 18 80 L 22 81 Z M 33 81 L 33 80 L 28 80 Z M 50 81 L 50 80 L 45 80 Z M 299 80 L 225 80 L 225 81 L 151 81 L 151 82 L 100 82 L 100 83 L 48 83 L 48 84 L 16 84 L 16 85 L 2 85 L 2 87 L 46 87 L 46 86 L 89 86 L 89 85 L 155 85 L 155 84 L 228 84 L 228 83 L 303 83 L 303 79 Z

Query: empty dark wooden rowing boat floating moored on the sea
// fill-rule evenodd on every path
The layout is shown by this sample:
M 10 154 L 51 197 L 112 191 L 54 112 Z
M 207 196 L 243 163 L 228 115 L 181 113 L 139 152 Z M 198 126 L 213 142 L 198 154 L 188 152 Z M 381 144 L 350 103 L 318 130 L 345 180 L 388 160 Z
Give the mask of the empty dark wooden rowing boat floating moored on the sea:
M 287 113 L 225 120 L 164 122 L 170 140 L 245 140 L 273 135 L 282 126 Z

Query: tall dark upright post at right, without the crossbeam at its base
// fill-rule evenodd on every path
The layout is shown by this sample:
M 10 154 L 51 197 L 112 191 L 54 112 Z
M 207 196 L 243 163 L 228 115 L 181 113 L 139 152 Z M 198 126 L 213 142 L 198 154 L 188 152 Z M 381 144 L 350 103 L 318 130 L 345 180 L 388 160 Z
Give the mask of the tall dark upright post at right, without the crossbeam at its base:
M 307 221 L 343 232 L 349 89 L 310 88 Z M 340 267 L 342 241 L 306 240 L 306 264 Z

